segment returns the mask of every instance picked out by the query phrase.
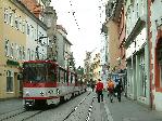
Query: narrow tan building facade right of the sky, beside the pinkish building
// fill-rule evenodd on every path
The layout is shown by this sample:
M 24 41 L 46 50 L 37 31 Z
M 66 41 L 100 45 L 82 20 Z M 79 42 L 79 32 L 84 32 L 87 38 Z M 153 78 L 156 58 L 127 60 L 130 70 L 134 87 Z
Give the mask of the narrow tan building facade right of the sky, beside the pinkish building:
M 120 56 L 119 51 L 119 24 L 115 18 L 115 0 L 109 0 L 105 5 L 105 26 L 108 28 L 108 52 L 109 52 L 109 73 L 117 70 L 117 57 Z

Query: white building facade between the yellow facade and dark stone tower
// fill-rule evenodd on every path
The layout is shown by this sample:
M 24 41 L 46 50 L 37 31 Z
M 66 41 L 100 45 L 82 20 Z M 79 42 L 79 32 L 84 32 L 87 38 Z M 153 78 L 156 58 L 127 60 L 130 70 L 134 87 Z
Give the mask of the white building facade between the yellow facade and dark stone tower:
M 46 59 L 49 40 L 46 25 L 36 17 L 26 18 L 26 60 Z

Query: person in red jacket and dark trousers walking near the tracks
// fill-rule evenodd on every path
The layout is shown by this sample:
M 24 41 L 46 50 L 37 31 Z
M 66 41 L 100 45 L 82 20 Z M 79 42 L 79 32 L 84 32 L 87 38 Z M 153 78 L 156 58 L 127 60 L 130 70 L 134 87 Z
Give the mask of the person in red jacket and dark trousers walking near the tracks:
M 98 79 L 98 82 L 96 84 L 96 92 L 97 92 L 97 95 L 98 95 L 98 103 L 100 103 L 100 97 L 101 97 L 101 100 L 103 102 L 102 91 L 103 91 L 103 83 L 101 82 L 100 79 Z

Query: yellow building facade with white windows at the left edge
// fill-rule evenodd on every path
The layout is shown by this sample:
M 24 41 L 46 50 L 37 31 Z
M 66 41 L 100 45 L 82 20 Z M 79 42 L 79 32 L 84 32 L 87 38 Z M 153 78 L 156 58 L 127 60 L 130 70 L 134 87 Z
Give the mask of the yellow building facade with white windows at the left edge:
M 0 98 L 18 97 L 20 65 L 25 59 L 26 14 L 15 0 L 0 0 Z

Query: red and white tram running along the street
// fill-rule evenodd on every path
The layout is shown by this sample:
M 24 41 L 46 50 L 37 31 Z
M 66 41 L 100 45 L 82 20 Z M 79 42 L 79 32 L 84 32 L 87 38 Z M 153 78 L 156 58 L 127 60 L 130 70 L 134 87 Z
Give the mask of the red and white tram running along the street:
M 52 60 L 28 60 L 23 63 L 23 104 L 25 108 L 58 105 L 86 91 L 77 73 L 64 69 Z

